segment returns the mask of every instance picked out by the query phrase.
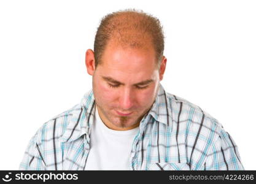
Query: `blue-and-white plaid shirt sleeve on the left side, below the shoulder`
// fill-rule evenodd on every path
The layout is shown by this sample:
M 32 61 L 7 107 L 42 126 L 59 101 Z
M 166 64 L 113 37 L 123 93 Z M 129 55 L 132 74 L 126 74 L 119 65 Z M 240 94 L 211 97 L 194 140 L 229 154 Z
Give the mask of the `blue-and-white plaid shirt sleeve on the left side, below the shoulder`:
M 19 170 L 46 170 L 41 144 L 37 143 L 38 131 L 29 141 Z

